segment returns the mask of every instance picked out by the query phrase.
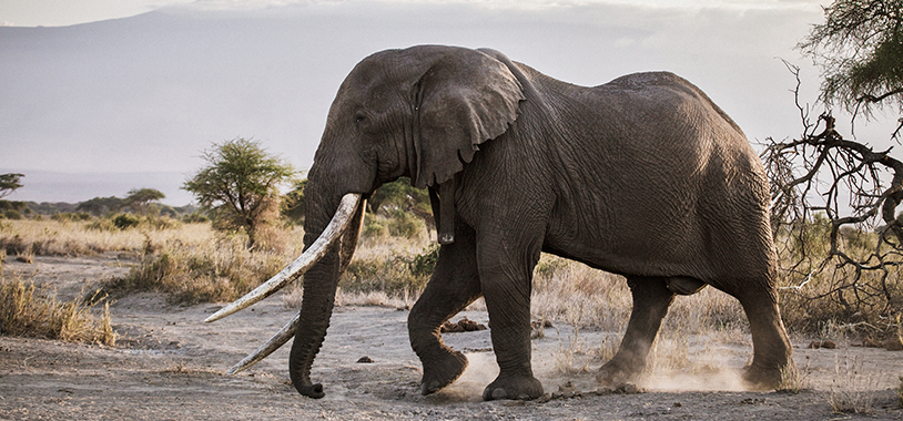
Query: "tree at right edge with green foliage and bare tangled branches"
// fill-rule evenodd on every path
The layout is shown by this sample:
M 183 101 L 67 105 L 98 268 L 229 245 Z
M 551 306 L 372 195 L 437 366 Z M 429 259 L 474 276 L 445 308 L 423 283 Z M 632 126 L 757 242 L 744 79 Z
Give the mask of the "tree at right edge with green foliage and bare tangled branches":
M 903 226 L 895 216 L 903 162 L 892 148 L 875 151 L 845 137 L 830 110 L 850 112 L 851 131 L 876 111 L 903 110 L 903 0 L 838 0 L 824 14 L 798 48 L 822 71 L 819 102 L 828 111 L 811 119 L 811 109 L 800 103 L 800 69 L 788 64 L 803 133 L 768 138 L 762 154 L 772 181 L 772 228 L 787 246 L 782 269 L 792 285 L 784 288 L 812 302 L 828 299 L 848 316 L 877 315 L 886 328 L 899 325 L 894 317 L 903 305 Z M 901 125 L 903 120 L 889 137 L 899 137 Z M 865 228 L 876 235 L 863 234 Z M 826 244 L 819 240 L 825 237 Z M 806 290 L 813 277 L 826 278 L 830 287 Z

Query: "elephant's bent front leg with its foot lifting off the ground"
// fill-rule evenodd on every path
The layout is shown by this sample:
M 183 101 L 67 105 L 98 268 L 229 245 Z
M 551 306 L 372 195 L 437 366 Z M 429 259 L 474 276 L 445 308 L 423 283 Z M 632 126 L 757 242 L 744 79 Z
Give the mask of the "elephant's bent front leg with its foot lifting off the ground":
M 456 224 L 456 242 L 443 246 L 436 269 L 408 316 L 410 347 L 424 367 L 420 392 L 452 384 L 467 368 L 467 357 L 442 341 L 440 327 L 480 296 L 473 230 Z

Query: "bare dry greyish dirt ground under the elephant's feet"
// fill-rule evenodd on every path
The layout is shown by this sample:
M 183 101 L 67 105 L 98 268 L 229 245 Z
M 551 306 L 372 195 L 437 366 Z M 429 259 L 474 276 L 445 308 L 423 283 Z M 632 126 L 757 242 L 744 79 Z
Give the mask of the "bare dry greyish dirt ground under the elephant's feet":
M 3 270 L 55 286 L 61 298 L 79 294 L 85 281 L 128 269 L 114 255 L 103 258 L 38 257 L 34 264 L 7 258 Z M 599 331 L 574 331 L 564 324 L 534 340 L 534 367 L 547 392 L 571 381 L 582 396 L 547 402 L 481 402 L 495 378 L 489 331 L 446 333 L 464 350 L 470 367 L 455 384 L 429 397 L 418 393 L 420 367 L 407 340 L 407 311 L 378 307 L 338 307 L 315 361 L 313 378 L 326 398 L 298 396 L 290 386 L 287 346 L 236 376 L 223 374 L 292 316 L 278 297 L 215 324 L 202 320 L 221 305 L 168 306 L 161 296 L 138 294 L 111 306 L 121 338 L 114 348 L 51 340 L 0 337 L 0 419 L 2 420 L 903 420 L 892 390 L 903 374 L 903 352 L 841 343 L 838 349 L 805 349 L 794 358 L 804 371 L 800 393 L 750 392 L 735 384 L 745 362 L 745 345 L 693 343 L 709 349 L 728 368 L 696 373 L 658 373 L 646 392 L 596 394 L 601 361 L 576 353 L 590 372 L 561 374 L 556 358 L 564 349 L 599 347 Z M 486 324 L 485 312 L 466 314 Z M 457 320 L 457 318 L 455 318 Z M 572 347 L 574 346 L 574 347 Z M 714 352 L 711 352 L 714 350 Z M 358 363 L 362 357 L 373 363 Z M 557 357 L 556 357 L 557 356 Z M 708 357 L 713 358 L 713 357 Z M 588 361 L 588 362 L 585 362 Z M 854 366 L 854 383 L 870 414 L 835 414 L 828 397 L 832 381 L 850 382 L 835 369 Z M 864 379 L 864 380 L 863 380 Z M 844 384 L 834 384 L 844 388 Z M 862 398 L 864 397 L 864 398 Z

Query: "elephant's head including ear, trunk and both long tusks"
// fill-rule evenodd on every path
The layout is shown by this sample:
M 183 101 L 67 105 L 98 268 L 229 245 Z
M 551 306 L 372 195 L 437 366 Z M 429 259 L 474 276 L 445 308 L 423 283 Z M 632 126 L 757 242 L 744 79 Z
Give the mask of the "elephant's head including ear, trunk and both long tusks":
M 230 373 L 263 359 L 294 336 L 292 381 L 302 394 L 324 396 L 310 372 L 326 335 L 338 278 L 357 242 L 364 208 L 361 198 L 400 176 L 410 177 L 420 188 L 447 186 L 481 143 L 508 130 L 525 95 L 518 79 L 496 54 L 416 47 L 373 54 L 352 70 L 329 109 L 308 173 L 304 255 L 207 321 L 272 295 L 306 271 L 298 316 Z M 445 196 L 443 192 L 454 193 L 454 188 L 440 189 Z M 443 201 L 446 215 L 454 212 L 446 206 L 449 203 Z M 446 219 L 453 220 L 442 218 Z

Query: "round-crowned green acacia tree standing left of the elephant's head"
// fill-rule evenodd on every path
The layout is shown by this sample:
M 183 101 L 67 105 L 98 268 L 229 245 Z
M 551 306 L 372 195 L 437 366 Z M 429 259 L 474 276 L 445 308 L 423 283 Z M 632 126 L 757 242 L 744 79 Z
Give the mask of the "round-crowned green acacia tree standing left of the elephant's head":
M 242 137 L 214 143 L 202 157 L 207 165 L 182 188 L 194 194 L 214 228 L 244 230 L 253 248 L 261 228 L 278 217 L 278 186 L 292 181 L 294 167 Z

